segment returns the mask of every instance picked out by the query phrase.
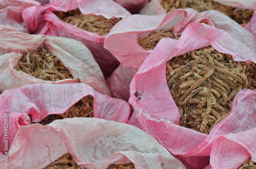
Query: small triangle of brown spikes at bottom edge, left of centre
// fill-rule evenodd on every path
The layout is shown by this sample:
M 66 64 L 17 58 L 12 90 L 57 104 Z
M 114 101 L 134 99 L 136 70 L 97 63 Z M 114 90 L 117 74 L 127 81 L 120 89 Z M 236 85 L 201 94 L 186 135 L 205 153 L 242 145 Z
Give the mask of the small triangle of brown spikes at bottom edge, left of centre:
M 50 163 L 43 169 L 82 169 L 79 165 L 77 165 L 75 159 L 71 156 L 70 153 L 67 153 L 61 156 L 59 159 L 55 160 L 54 162 Z

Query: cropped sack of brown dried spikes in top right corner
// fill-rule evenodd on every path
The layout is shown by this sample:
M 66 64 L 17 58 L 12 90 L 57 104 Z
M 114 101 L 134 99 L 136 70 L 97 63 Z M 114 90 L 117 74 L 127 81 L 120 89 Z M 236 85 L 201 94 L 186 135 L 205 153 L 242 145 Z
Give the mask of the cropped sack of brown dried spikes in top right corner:
M 239 1 L 239 0 L 238 0 Z M 245 6 L 241 6 L 236 1 L 232 1 L 231 3 L 227 3 L 223 0 L 203 0 L 203 1 L 197 1 L 197 0 L 153 0 L 150 5 L 144 7 L 140 14 L 150 14 L 153 15 L 155 13 L 158 13 L 159 15 L 163 15 L 169 11 L 175 10 L 175 9 L 187 9 L 187 8 L 193 8 L 194 10 L 198 12 L 204 12 L 204 11 L 210 11 L 210 10 L 217 10 L 231 19 L 238 22 L 240 25 L 245 25 L 248 23 L 252 17 L 252 14 L 254 13 L 254 10 L 252 9 L 253 6 L 250 6 L 249 4 L 252 4 L 254 2 L 250 3 L 242 3 L 240 4 L 246 4 Z M 238 5 L 239 4 L 239 5 Z M 153 8 L 153 10 L 152 10 Z

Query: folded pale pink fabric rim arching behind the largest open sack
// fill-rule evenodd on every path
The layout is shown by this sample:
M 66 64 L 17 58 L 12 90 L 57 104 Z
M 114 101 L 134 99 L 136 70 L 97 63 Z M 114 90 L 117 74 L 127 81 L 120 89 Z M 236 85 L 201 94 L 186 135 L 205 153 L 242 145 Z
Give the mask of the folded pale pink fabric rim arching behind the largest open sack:
M 153 51 L 145 51 L 138 44 L 138 38 L 145 37 L 155 30 L 169 29 L 174 26 L 174 34 L 181 35 L 191 22 L 205 22 L 227 31 L 233 38 L 238 39 L 256 53 L 255 37 L 236 21 L 218 11 L 198 13 L 193 9 L 177 9 L 160 16 L 129 16 L 112 28 L 105 39 L 104 47 L 124 66 L 138 69 Z

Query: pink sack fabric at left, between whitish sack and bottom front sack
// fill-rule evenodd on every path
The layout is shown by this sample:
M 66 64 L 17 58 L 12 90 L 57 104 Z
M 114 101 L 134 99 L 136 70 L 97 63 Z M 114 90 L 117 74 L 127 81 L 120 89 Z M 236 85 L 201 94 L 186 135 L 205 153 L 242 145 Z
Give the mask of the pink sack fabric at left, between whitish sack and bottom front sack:
M 50 114 L 63 114 L 87 95 L 92 95 L 95 118 L 127 123 L 130 106 L 127 102 L 100 94 L 86 84 L 34 84 L 4 91 L 0 95 L 0 125 L 8 114 L 9 148 L 21 126 L 37 123 Z M 1 127 L 0 150 L 4 152 L 4 128 Z

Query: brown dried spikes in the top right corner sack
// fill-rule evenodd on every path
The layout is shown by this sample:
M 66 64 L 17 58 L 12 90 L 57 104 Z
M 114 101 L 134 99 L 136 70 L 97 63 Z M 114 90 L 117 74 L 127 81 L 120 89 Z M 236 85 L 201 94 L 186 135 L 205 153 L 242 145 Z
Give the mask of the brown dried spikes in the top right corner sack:
M 174 9 L 186 9 L 193 8 L 198 12 L 204 12 L 209 10 L 217 10 L 226 14 L 231 19 L 235 20 L 239 24 L 246 24 L 250 21 L 253 11 L 240 10 L 238 8 L 226 6 L 212 0 L 162 0 L 161 6 L 165 12 L 172 11 Z

